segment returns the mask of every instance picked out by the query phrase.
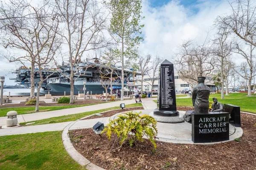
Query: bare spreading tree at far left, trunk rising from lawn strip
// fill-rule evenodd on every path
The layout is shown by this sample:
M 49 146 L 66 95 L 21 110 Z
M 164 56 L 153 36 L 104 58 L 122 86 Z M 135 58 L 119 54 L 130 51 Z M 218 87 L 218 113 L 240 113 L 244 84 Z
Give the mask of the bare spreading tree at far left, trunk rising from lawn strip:
M 19 8 L 19 6 L 24 8 Z M 19 11 L 26 17 L 10 17 L 7 14 L 15 14 L 14 10 Z M 21 49 L 26 52 L 26 56 L 10 57 L 10 62 L 22 61 L 26 59 L 31 62 L 31 87 L 34 88 L 34 68 L 38 67 L 40 82 L 38 82 L 37 102 L 35 111 L 39 107 L 39 94 L 42 83 L 46 80 L 43 78 L 42 70 L 44 66 L 48 66 L 53 61 L 55 51 L 60 47 L 61 41 L 57 38 L 59 20 L 58 17 L 52 15 L 52 9 L 48 3 L 43 6 L 33 7 L 25 1 L 12 2 L 7 5 L 3 14 L 6 14 L 6 20 L 1 20 L 1 31 L 5 32 L 2 37 L 5 48 Z M 50 11 L 50 12 L 49 12 Z M 27 14 L 28 13 L 28 14 Z M 53 16 L 53 18 L 52 18 Z M 5 41 L 6 40 L 6 41 Z M 48 71 L 48 70 L 47 70 Z M 52 73 L 54 74 L 54 72 Z M 51 76 L 50 74 L 49 76 Z M 48 77 L 49 77 L 48 76 Z M 47 78 L 48 78 L 47 77 Z M 34 91 L 31 95 L 33 96 Z

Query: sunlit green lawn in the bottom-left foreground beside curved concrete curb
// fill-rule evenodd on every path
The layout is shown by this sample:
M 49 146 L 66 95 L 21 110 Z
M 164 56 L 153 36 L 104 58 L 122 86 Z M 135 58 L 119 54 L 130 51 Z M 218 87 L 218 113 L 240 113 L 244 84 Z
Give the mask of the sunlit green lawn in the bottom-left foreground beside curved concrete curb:
M 0 137 L 0 170 L 84 170 L 66 152 L 62 131 Z

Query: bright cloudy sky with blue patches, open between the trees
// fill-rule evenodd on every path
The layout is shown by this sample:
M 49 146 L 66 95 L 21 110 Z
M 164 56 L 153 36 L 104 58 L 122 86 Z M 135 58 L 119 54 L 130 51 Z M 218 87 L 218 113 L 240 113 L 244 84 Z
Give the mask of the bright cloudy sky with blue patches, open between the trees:
M 164 59 L 172 60 L 179 45 L 185 40 L 195 40 L 199 44 L 212 30 L 218 15 L 230 12 L 226 0 L 143 0 L 142 30 L 144 41 L 140 44 L 141 54 L 158 54 Z M 6 51 L 0 47 L 0 54 Z M 15 51 L 17 55 L 22 51 Z M 9 77 L 12 70 L 20 67 L 9 63 L 0 56 L 0 76 L 6 77 L 6 85 L 15 85 Z

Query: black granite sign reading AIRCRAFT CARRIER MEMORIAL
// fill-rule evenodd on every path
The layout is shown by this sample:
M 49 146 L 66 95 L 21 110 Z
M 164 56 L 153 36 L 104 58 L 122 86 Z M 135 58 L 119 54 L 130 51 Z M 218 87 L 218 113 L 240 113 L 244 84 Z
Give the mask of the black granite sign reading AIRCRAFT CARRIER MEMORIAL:
M 194 143 L 229 140 L 229 113 L 192 113 L 192 141 Z

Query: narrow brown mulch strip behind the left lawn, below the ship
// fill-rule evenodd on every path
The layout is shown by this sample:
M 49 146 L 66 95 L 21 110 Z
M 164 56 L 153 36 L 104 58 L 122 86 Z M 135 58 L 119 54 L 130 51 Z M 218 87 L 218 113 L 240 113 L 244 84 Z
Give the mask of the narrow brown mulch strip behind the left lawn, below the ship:
M 87 99 L 87 100 L 75 100 L 74 104 L 58 104 L 58 103 L 45 103 L 44 101 L 39 102 L 39 106 L 68 106 L 68 105 L 89 105 L 94 103 L 104 103 L 105 100 Z M 8 104 L 1 105 L 0 108 L 14 108 L 14 107 L 30 107 L 35 105 L 25 105 L 25 102 L 20 104 Z

